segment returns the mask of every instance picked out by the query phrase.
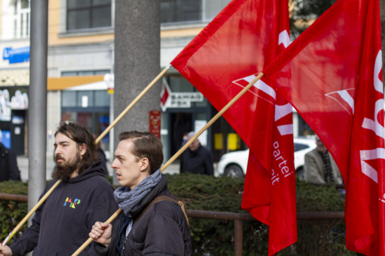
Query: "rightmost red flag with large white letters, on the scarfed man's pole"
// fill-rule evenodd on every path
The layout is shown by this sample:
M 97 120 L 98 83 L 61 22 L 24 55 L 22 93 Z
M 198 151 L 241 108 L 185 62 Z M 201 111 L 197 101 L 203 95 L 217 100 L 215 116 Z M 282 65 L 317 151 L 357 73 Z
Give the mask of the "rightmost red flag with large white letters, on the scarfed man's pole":
M 378 5 L 338 0 L 263 71 L 333 155 L 346 188 L 346 246 L 366 255 L 385 255 Z

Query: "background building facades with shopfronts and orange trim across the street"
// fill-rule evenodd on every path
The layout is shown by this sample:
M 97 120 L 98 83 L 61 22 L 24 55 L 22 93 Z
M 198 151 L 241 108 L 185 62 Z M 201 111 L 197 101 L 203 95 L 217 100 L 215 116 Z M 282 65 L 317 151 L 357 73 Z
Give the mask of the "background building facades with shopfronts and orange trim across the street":
M 160 68 L 163 69 L 229 2 L 160 0 Z M 0 99 L 3 98 L 6 102 L 3 105 L 10 109 L 9 112 L 4 110 L 6 114 L 0 111 L 0 129 L 11 136 L 12 147 L 21 147 L 19 154 L 27 154 L 30 2 L 2 0 L 1 7 Z M 114 72 L 114 9 L 114 0 L 49 0 L 49 157 L 54 150 L 53 133 L 61 120 L 75 119 L 96 135 L 112 121 L 113 94 L 108 93 L 111 85 L 104 77 Z M 160 134 L 167 160 L 180 148 L 183 134 L 198 131 L 217 110 L 176 69 L 171 68 L 166 73 L 162 86 L 172 95 L 172 101 L 163 105 L 161 112 Z M 24 105 L 20 98 L 24 98 Z M 19 101 L 21 103 L 17 104 Z M 293 119 L 295 136 L 312 133 L 297 113 Z M 143 127 L 146 129 L 148 127 Z M 101 143 L 107 157 L 113 152 L 110 136 L 112 134 Z M 246 147 L 223 117 L 201 135 L 200 141 L 213 152 L 216 161 L 223 153 Z

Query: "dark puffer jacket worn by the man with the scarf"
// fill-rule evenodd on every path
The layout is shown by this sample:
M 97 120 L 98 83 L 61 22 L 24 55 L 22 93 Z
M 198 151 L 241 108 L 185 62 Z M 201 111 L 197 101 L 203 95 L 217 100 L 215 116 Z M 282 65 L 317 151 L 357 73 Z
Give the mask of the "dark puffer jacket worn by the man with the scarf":
M 110 245 L 104 247 L 102 244 L 96 243 L 96 252 L 103 256 L 191 255 L 190 230 L 178 203 L 159 201 L 151 205 L 136 221 L 142 210 L 159 195 L 175 198 L 168 191 L 167 178 L 163 175 L 159 183 L 131 211 L 134 224 L 127 238 L 124 236 L 124 227 L 118 239 L 120 225 L 125 222 L 124 215 L 121 213 L 112 225 Z M 119 254 L 117 243 L 120 243 L 121 254 Z

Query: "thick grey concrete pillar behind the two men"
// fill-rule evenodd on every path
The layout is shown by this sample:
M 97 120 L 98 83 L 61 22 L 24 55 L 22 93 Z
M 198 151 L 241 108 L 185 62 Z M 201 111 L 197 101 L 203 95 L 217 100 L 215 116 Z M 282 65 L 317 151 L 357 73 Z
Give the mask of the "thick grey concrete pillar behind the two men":
M 114 117 L 160 72 L 159 33 L 158 0 L 115 1 Z M 148 131 L 149 111 L 160 110 L 160 90 L 158 82 L 115 125 L 114 149 L 120 132 Z

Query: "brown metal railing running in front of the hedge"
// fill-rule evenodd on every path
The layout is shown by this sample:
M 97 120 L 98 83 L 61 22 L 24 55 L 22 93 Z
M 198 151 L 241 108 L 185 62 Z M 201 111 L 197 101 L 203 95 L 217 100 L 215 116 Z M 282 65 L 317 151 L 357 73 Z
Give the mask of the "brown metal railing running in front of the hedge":
M 0 193 L 0 200 L 28 201 L 27 195 Z M 233 220 L 234 223 L 234 255 L 242 256 L 242 221 L 259 221 L 250 213 L 234 213 L 209 210 L 187 209 L 188 217 L 210 218 L 220 220 Z M 297 212 L 297 219 L 340 219 L 344 217 L 343 211 L 316 211 Z

